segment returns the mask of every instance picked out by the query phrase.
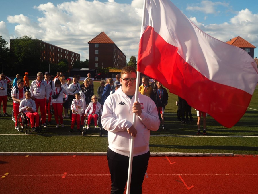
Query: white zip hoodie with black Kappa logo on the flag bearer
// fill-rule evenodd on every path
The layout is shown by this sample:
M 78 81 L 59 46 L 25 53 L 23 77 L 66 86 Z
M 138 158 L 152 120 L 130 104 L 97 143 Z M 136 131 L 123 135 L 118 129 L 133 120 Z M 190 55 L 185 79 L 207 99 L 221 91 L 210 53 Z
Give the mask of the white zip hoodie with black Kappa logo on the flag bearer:
M 134 139 L 133 156 L 149 151 L 150 130 L 157 131 L 160 120 L 155 103 L 139 93 L 138 102 L 142 106 L 142 114 L 136 116 L 137 136 Z M 108 131 L 108 147 L 112 151 L 129 156 L 131 135 L 128 129 L 132 126 L 132 106 L 134 96 L 130 99 L 120 87 L 107 97 L 101 117 L 101 124 Z

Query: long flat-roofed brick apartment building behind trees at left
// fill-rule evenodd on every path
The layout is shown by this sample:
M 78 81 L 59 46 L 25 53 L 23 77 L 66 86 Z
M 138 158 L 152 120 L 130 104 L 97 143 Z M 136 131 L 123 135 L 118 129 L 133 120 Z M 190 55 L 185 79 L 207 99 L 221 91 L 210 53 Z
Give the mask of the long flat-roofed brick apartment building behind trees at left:
M 15 39 L 10 39 L 10 49 L 11 42 Z M 69 66 L 69 72 L 73 68 L 73 64 L 75 61 L 80 61 L 80 54 L 69 51 L 67 49 L 63 49 L 61 47 L 46 43 L 41 41 L 41 45 L 43 51 L 41 53 L 41 60 L 46 60 L 48 63 L 58 64 L 60 59 L 66 59 Z

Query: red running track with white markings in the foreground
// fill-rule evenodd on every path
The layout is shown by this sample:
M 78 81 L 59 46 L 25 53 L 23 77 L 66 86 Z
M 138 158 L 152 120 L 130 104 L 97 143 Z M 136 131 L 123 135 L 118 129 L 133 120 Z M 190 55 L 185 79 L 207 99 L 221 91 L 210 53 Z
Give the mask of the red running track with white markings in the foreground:
M 106 156 L 1 155 L 0 176 L 0 193 L 110 193 Z M 142 191 L 258 193 L 258 155 L 150 157 Z

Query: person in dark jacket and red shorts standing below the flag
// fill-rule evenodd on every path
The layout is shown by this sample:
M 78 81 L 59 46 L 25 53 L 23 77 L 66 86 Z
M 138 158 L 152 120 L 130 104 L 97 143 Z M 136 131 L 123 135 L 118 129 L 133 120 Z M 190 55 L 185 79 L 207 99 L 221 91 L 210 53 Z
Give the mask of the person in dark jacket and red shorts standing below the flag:
M 165 88 L 162 87 L 162 84 L 160 82 L 157 82 L 157 88 L 153 89 L 153 94 L 151 96 L 151 99 L 155 102 L 157 106 L 158 113 L 161 114 L 161 128 L 166 129 L 164 125 L 164 110 L 165 106 L 167 105 L 168 101 L 168 93 Z

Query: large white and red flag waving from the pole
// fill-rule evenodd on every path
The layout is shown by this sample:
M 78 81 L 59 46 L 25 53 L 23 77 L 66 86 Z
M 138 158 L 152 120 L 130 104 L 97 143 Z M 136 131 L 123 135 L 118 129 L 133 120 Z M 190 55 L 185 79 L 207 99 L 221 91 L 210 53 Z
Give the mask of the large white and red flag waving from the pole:
M 254 59 L 202 32 L 169 0 L 146 0 L 144 12 L 137 70 L 223 126 L 234 126 L 258 82 Z

